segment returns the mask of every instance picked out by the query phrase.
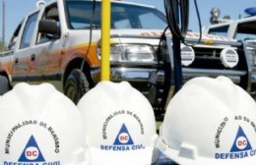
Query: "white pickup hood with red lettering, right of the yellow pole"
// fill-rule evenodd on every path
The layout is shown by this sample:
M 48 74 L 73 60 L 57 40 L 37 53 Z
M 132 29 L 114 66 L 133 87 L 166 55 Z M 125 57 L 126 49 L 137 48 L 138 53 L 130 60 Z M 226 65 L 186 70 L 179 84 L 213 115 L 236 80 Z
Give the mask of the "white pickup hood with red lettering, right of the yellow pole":
M 161 29 L 111 29 L 110 34 L 112 36 L 119 37 L 160 37 L 163 30 Z M 171 32 L 166 32 L 167 35 L 171 35 Z M 186 38 L 198 39 L 200 36 L 199 32 L 188 32 Z M 214 34 L 202 34 L 203 40 L 216 40 L 216 41 L 236 41 L 235 39 L 226 38 L 224 36 Z

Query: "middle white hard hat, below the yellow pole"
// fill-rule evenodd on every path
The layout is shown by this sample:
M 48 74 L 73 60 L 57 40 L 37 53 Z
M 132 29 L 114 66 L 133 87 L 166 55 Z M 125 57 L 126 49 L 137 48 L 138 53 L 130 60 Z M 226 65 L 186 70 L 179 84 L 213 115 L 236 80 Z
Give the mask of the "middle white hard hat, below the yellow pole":
M 93 165 L 149 165 L 159 158 L 154 111 L 129 83 L 97 83 L 78 103 Z

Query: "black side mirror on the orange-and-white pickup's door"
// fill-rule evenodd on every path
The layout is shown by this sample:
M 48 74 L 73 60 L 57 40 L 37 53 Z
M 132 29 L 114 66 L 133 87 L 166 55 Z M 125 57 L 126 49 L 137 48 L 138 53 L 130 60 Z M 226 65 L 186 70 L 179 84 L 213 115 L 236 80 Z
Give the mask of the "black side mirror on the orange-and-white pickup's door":
M 59 27 L 55 20 L 39 21 L 38 31 L 44 34 L 50 34 L 52 37 L 59 37 Z

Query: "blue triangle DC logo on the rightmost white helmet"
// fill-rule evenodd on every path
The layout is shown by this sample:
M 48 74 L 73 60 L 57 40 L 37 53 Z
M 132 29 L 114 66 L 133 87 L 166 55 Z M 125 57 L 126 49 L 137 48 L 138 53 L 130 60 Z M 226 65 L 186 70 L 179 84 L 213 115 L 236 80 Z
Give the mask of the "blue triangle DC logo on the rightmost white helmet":
M 239 126 L 236 138 L 233 141 L 230 152 L 238 152 L 252 149 L 250 141 L 244 134 L 242 128 Z

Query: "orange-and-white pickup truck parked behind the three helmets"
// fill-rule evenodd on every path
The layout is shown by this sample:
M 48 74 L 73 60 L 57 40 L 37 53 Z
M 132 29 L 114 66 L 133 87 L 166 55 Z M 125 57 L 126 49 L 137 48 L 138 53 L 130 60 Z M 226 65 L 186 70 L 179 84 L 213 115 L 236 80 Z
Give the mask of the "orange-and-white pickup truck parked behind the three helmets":
M 93 3 L 52 0 L 30 13 L 0 58 L 0 92 L 20 82 L 47 82 L 77 102 L 94 87 L 100 81 L 100 1 L 91 24 Z M 138 88 L 149 98 L 156 116 L 164 113 L 175 87 L 171 37 L 160 37 L 165 27 L 164 14 L 153 6 L 111 1 L 110 80 Z M 168 30 L 165 35 L 171 36 Z M 189 32 L 187 43 L 198 37 Z M 223 75 L 250 90 L 250 65 L 241 42 L 207 34 L 194 47 L 181 44 L 181 56 L 184 82 Z

